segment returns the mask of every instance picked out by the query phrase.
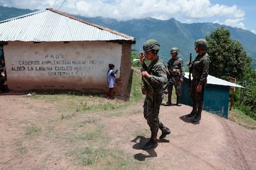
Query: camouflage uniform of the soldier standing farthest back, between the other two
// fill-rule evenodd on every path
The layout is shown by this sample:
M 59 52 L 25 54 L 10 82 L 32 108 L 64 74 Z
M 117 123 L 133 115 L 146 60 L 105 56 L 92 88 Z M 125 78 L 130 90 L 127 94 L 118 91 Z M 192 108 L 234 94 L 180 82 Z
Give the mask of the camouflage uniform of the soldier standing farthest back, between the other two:
M 171 58 L 168 63 L 167 67 L 169 70 L 169 73 L 171 75 L 168 75 L 168 79 L 174 78 L 175 83 L 171 83 L 168 86 L 168 101 L 171 99 L 171 95 L 173 93 L 173 86 L 175 87 L 175 92 L 177 96 L 177 103 L 179 101 L 179 98 L 181 97 L 181 81 L 180 79 L 184 79 L 185 76 L 185 70 L 184 70 L 184 63 L 181 58 L 173 59 Z M 171 102 L 171 101 L 169 101 Z

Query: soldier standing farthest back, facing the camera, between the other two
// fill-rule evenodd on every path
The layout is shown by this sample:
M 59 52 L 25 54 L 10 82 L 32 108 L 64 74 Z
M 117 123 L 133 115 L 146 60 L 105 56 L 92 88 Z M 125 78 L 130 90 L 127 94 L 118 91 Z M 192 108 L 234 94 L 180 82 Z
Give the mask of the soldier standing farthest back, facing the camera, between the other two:
M 181 103 L 179 103 L 179 100 L 181 99 L 181 83 L 183 82 L 183 78 L 185 76 L 185 70 L 184 70 L 184 63 L 183 60 L 177 55 L 179 54 L 179 49 L 177 47 L 171 48 L 171 59 L 167 63 L 167 78 L 175 79 L 175 83 L 170 83 L 168 85 L 168 102 L 164 103 L 163 105 L 170 106 L 171 105 L 171 95 L 173 93 L 173 86 L 175 87 L 176 92 L 176 105 L 181 106 Z

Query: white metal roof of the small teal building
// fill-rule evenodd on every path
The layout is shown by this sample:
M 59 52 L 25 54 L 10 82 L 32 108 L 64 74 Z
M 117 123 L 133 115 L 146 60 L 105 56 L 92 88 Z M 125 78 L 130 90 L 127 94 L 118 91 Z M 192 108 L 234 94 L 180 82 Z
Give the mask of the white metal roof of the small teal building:
M 185 72 L 185 78 L 189 79 L 189 73 L 188 72 Z M 236 83 L 231 83 L 229 81 L 226 81 L 226 80 L 220 79 L 220 78 L 216 78 L 215 76 L 211 76 L 211 75 L 207 76 L 207 84 L 244 88 L 243 86 L 240 86 Z

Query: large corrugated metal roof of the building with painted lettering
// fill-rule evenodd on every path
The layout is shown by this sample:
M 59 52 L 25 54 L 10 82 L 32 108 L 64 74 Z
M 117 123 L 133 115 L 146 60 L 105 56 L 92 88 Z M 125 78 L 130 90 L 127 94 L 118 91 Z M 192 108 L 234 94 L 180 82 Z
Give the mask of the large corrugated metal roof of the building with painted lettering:
M 0 41 L 128 41 L 135 38 L 54 9 L 0 22 Z

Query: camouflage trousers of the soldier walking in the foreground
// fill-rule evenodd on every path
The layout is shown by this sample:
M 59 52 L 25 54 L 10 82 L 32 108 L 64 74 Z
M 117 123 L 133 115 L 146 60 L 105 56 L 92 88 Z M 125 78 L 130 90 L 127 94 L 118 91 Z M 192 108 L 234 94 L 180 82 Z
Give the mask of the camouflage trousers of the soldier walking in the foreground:
M 153 100 L 147 96 L 143 105 L 144 118 L 147 119 L 148 126 L 150 126 L 150 131 L 152 133 L 157 133 L 158 128 L 161 130 L 166 128 L 163 125 L 163 123 L 159 121 L 159 118 L 158 118 L 162 100 L 163 100 L 163 94 L 154 95 Z

